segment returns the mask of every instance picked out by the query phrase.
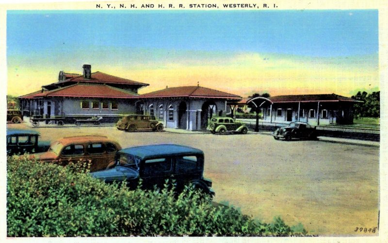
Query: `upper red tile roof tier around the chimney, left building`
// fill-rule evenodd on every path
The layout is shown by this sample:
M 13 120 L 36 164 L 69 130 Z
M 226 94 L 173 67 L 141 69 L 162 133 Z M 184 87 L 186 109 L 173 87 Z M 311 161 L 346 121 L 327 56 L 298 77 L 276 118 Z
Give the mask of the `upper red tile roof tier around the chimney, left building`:
M 141 82 L 133 81 L 122 77 L 116 77 L 116 76 L 112 76 L 101 72 L 92 73 L 91 79 L 84 78 L 82 75 L 79 75 L 66 80 L 66 82 L 69 82 L 69 81 L 77 81 L 77 82 L 83 82 L 83 83 L 107 83 L 107 84 L 127 84 L 127 85 L 129 84 L 129 85 L 139 85 L 139 86 L 149 85 L 146 83 L 141 83 Z

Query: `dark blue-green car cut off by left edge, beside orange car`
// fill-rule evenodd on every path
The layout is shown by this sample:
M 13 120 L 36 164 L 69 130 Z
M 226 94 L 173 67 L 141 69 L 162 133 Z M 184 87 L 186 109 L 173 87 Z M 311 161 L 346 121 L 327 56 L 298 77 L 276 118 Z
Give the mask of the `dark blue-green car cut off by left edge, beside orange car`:
M 33 130 L 7 129 L 7 155 L 48 151 L 50 142 L 40 141 L 39 136 Z

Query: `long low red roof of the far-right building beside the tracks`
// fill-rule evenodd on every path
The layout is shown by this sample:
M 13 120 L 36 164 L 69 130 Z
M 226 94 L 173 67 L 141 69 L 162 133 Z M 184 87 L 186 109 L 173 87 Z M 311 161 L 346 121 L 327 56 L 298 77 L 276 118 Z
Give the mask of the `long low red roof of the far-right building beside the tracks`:
M 295 95 L 278 95 L 269 98 L 274 103 L 287 103 L 287 102 L 338 102 L 338 101 L 351 101 L 356 100 L 341 96 L 335 93 L 332 94 L 295 94 Z

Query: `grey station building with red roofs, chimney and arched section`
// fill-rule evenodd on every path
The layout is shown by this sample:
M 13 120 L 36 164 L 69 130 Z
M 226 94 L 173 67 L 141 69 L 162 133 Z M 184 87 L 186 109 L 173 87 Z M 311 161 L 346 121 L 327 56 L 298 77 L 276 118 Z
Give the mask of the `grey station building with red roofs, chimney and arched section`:
M 59 72 L 58 82 L 19 96 L 25 116 L 41 118 L 101 116 L 102 122 L 115 122 L 122 114 L 148 114 L 169 128 L 200 130 L 208 118 L 230 112 L 227 102 L 239 95 L 205 87 L 173 87 L 140 95 L 149 84 L 102 72 L 92 73 L 83 65 L 83 74 Z

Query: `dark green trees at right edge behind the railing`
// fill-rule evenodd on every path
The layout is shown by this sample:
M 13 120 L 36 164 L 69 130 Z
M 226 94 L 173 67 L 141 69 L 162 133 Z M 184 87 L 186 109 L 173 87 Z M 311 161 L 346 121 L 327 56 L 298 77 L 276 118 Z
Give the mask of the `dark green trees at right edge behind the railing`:
M 358 91 L 352 99 L 362 101 L 354 105 L 355 117 L 380 117 L 380 91 L 368 94 L 366 91 Z

